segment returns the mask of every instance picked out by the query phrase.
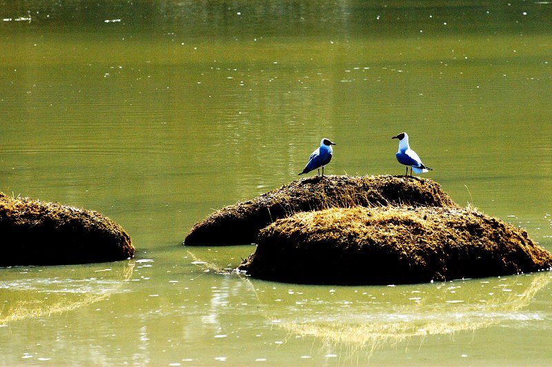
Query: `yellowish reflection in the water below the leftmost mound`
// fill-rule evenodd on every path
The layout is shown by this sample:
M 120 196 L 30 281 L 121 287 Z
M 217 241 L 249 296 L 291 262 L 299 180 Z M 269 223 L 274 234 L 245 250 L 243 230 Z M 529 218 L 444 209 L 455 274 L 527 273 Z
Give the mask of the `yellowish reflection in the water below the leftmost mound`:
M 107 299 L 121 290 L 133 268 L 134 261 L 113 263 L 110 268 L 79 266 L 67 279 L 55 276 L 57 267 L 2 269 L 0 326 L 59 315 Z

